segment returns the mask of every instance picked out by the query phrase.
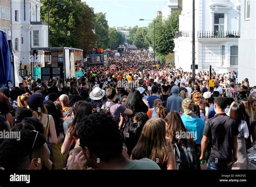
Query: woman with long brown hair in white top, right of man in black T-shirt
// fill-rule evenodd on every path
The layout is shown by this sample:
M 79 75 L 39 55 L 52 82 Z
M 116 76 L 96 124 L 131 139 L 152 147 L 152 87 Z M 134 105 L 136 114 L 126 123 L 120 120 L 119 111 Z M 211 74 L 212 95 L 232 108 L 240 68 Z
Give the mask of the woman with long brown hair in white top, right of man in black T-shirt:
M 246 111 L 245 106 L 241 101 L 233 103 L 230 108 L 230 117 L 235 120 L 238 125 L 238 150 L 237 150 L 237 162 L 234 163 L 233 168 L 248 169 L 248 156 L 246 153 L 245 139 L 249 136 L 249 131 L 246 123 Z

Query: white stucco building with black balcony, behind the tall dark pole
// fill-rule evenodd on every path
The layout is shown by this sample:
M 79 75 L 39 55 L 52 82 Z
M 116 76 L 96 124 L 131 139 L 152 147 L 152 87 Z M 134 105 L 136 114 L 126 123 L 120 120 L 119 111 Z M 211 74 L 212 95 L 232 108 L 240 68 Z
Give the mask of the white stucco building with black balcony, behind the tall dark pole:
M 175 43 L 176 67 L 191 71 L 192 0 L 183 0 Z M 196 0 L 196 64 L 217 73 L 238 69 L 240 0 Z

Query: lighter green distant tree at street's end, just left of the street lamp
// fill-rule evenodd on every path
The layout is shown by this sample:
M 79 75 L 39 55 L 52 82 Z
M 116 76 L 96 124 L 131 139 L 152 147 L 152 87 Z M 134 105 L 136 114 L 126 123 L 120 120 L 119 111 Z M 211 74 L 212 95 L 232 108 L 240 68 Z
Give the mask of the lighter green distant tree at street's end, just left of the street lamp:
M 139 27 L 136 32 L 136 38 L 134 39 L 134 45 L 138 49 L 149 49 L 150 43 L 147 37 L 147 27 Z

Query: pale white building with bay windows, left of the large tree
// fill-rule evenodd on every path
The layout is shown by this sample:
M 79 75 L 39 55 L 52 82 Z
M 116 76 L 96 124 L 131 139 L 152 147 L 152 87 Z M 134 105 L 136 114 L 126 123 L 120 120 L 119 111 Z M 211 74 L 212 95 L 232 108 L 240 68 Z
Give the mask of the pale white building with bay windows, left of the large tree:
M 48 47 L 48 24 L 41 21 L 40 0 L 12 0 L 12 45 L 22 64 L 30 64 L 31 47 Z

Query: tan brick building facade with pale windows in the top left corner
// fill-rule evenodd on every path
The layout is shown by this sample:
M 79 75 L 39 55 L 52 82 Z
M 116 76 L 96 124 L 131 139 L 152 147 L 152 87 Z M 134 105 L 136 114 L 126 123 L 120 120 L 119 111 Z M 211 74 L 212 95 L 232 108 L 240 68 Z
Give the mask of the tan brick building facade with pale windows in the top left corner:
M 11 40 L 11 1 L 0 0 L 0 30 Z

